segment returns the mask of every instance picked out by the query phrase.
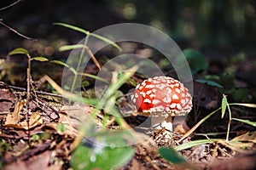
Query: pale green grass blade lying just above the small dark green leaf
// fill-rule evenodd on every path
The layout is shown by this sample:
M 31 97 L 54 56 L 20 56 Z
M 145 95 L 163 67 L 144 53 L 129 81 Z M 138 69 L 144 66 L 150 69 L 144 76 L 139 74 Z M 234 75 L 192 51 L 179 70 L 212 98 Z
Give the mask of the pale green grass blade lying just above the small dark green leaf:
M 200 140 L 194 140 L 194 141 L 190 141 L 184 144 L 179 144 L 177 145 L 174 149 L 179 151 L 179 150 L 186 150 L 188 148 L 191 148 L 193 146 L 196 145 L 200 145 L 200 144 L 212 144 L 213 142 L 216 142 L 218 140 L 221 139 L 200 139 Z

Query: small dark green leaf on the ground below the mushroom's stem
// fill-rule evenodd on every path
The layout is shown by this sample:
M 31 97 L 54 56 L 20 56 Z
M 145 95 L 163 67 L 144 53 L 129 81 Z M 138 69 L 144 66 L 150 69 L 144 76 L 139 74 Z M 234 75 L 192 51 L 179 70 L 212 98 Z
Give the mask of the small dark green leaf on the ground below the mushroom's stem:
M 174 164 L 188 163 L 183 156 L 179 155 L 177 151 L 172 148 L 160 148 L 158 152 L 160 153 L 160 156 Z

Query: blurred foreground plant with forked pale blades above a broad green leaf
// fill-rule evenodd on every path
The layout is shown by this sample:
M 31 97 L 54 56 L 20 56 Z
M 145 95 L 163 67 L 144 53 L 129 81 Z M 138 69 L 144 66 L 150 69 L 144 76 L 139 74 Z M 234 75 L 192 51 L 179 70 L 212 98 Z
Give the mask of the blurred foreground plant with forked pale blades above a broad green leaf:
M 109 169 L 110 167 L 120 167 L 130 161 L 134 156 L 135 150 L 133 147 L 129 146 L 133 144 L 132 135 L 134 132 L 124 119 L 119 116 L 119 111 L 115 108 L 115 101 L 119 96 L 116 93 L 118 93 L 120 86 L 130 79 L 138 67 L 139 65 L 135 65 L 123 73 L 113 73 L 113 75 L 115 75 L 112 78 L 113 82 L 111 82 L 105 94 L 102 96 L 102 99 L 99 101 L 96 99 L 82 98 L 82 101 L 86 104 L 91 104 L 92 101 L 95 102 L 95 110 L 90 113 L 92 119 L 96 117 L 96 111 L 104 108 L 104 111 L 115 117 L 115 121 L 124 131 L 111 131 L 102 128 L 100 132 L 93 132 L 91 129 L 95 126 L 94 122 L 86 122 L 80 129 L 81 135 L 75 139 L 72 145 L 72 150 L 74 150 L 74 152 L 71 165 L 74 169 L 94 169 L 96 167 Z M 81 101 L 81 98 L 77 94 L 72 94 L 63 90 L 49 77 L 45 77 L 45 79 L 59 93 L 66 96 L 68 99 L 71 99 L 72 101 Z M 108 116 L 105 118 L 107 117 Z M 91 148 L 80 144 L 84 137 L 95 139 L 94 144 L 99 143 L 99 145 Z M 101 145 L 102 143 L 103 145 Z

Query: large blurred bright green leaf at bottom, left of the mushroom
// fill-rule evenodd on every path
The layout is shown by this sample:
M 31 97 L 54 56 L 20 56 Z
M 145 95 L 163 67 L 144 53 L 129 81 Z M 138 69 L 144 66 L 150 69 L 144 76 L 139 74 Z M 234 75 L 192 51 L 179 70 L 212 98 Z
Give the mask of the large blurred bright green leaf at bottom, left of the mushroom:
M 126 138 L 129 139 L 131 136 L 121 131 L 97 133 L 92 144 L 80 144 L 74 150 L 71 166 L 75 170 L 107 170 L 124 166 L 135 154 L 134 148 L 128 146 L 130 144 Z

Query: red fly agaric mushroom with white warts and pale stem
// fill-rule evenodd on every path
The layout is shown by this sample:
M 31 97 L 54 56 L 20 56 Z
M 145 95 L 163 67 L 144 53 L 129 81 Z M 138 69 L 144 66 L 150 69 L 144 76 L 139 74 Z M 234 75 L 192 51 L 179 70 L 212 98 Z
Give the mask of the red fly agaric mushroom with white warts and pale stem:
M 155 127 L 172 131 L 172 116 L 184 116 L 192 109 L 189 90 L 172 77 L 153 77 L 138 84 L 131 102 L 138 115 L 152 116 Z M 159 126 L 160 125 L 160 126 Z

